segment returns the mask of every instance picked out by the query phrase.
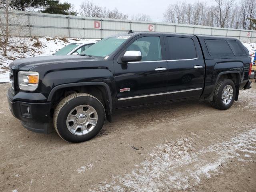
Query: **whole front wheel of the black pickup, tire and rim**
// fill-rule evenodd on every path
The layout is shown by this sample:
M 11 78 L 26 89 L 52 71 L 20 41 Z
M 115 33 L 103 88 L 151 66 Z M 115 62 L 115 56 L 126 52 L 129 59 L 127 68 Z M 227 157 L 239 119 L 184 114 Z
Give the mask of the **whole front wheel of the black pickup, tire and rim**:
M 54 111 L 54 128 L 68 142 L 84 142 L 100 132 L 105 109 L 94 96 L 75 93 L 64 98 Z

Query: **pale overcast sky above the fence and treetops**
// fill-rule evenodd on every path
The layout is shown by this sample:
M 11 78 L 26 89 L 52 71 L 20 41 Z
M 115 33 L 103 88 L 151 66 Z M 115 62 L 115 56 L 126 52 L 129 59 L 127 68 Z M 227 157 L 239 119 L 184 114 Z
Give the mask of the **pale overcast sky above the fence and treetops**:
M 75 9 L 79 11 L 80 4 L 84 0 L 60 0 L 60 2 L 68 2 L 74 4 Z M 185 2 L 194 3 L 198 0 L 187 0 Z M 207 2 L 207 4 L 213 4 L 213 0 L 200 0 L 202 2 Z M 163 21 L 163 12 L 166 10 L 169 4 L 174 4 L 179 2 L 177 0 L 90 0 L 94 4 L 97 4 L 101 7 L 106 7 L 106 9 L 118 8 L 124 14 L 128 14 L 129 18 L 132 15 L 147 14 L 150 16 L 152 21 L 162 22 Z M 156 3 L 157 2 L 157 3 Z M 182 0 L 181 2 L 184 2 Z

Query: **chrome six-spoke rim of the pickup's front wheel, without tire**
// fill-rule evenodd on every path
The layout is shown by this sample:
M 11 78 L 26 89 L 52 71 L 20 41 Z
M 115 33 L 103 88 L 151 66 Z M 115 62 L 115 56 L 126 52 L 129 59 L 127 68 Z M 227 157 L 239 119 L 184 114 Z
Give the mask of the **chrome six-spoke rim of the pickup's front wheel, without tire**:
M 96 110 L 90 105 L 80 105 L 68 114 L 66 124 L 74 135 L 85 135 L 94 129 L 98 121 Z

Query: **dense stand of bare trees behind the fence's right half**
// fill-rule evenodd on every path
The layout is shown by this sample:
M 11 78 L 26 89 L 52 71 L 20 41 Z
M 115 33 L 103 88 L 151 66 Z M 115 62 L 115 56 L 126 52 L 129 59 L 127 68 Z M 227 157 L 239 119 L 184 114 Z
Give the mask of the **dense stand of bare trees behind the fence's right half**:
M 170 4 L 163 13 L 164 21 L 178 24 L 194 24 L 212 27 L 253 29 L 256 16 L 255 0 L 214 0 L 215 5 L 205 2 Z

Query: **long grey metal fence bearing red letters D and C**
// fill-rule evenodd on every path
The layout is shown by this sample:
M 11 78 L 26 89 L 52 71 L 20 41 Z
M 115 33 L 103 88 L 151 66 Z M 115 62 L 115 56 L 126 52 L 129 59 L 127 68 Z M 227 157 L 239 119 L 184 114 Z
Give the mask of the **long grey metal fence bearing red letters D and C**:
M 4 17 L 3 13 L 3 10 L 0 10 L 1 18 Z M 12 36 L 104 38 L 113 34 L 133 30 L 228 36 L 238 38 L 243 42 L 256 42 L 256 31 L 253 30 L 215 28 L 186 24 L 134 22 L 129 20 L 89 18 L 23 11 L 11 12 L 10 18 L 10 34 Z

